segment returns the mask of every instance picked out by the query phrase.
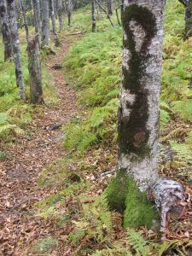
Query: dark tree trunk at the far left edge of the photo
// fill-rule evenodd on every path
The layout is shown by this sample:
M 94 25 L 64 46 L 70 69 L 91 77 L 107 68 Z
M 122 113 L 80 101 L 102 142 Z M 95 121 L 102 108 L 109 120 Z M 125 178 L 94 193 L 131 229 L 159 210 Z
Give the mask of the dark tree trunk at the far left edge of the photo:
M 4 45 L 4 61 L 12 57 L 11 32 L 9 28 L 9 17 L 6 0 L 0 2 L 0 16 L 2 20 L 2 34 Z

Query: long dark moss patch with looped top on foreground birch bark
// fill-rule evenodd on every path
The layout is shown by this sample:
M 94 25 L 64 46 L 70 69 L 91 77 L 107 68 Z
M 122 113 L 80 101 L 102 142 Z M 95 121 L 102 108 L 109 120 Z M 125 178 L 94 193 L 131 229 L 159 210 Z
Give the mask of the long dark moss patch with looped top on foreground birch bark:
M 122 15 L 123 26 L 127 38 L 124 39 L 124 48 L 131 52 L 131 60 L 128 61 L 129 70 L 123 67 L 123 87 L 130 90 L 136 96 L 131 109 L 130 117 L 123 116 L 119 108 L 119 151 L 120 153 L 136 153 L 146 155 L 150 148 L 147 146 L 149 131 L 148 121 L 148 90 L 144 88 L 141 79 L 145 75 L 145 62 L 148 61 L 148 46 L 156 34 L 156 21 L 154 15 L 147 9 L 137 4 L 131 4 L 125 8 Z M 134 35 L 130 28 L 131 20 L 143 27 L 145 37 L 140 52 L 136 50 Z

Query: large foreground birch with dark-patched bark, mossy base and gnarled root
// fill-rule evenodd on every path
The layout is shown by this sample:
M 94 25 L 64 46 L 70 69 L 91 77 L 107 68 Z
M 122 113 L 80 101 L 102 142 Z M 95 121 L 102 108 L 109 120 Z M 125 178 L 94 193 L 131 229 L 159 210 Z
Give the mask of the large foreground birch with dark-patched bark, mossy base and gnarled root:
M 119 105 L 119 165 L 106 190 L 110 207 L 124 212 L 124 226 L 151 227 L 183 199 L 183 186 L 158 175 L 160 75 L 165 0 L 125 0 L 123 75 Z

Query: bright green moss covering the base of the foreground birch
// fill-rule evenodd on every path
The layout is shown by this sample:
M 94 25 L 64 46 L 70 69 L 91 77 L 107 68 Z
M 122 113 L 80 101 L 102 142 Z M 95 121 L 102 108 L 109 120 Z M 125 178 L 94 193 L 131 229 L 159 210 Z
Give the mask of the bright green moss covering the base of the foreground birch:
M 118 171 L 104 194 L 111 209 L 124 213 L 124 228 L 150 228 L 157 218 L 154 204 L 148 201 L 147 193 L 137 188 L 137 183 L 125 171 Z

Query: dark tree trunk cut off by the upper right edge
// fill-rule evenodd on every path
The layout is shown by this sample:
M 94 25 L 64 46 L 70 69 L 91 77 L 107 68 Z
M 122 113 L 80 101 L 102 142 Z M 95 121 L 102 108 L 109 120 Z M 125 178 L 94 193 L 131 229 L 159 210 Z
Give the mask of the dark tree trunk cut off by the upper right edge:
M 186 1 L 185 8 L 185 38 L 192 36 L 192 0 Z

